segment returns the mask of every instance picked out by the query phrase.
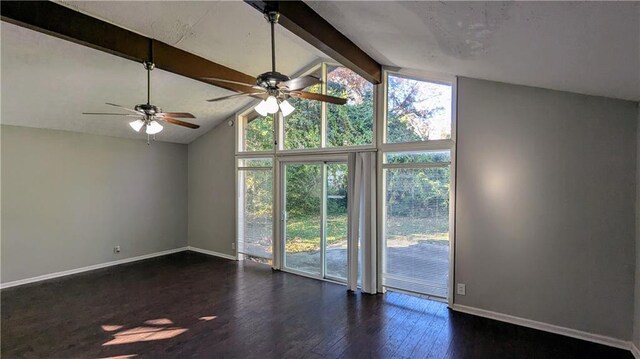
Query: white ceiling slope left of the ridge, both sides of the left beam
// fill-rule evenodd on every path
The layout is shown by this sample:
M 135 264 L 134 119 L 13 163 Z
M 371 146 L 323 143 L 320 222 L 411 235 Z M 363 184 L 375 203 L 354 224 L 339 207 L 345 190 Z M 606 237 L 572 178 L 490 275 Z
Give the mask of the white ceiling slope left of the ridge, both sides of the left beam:
M 241 2 L 73 3 L 96 17 L 156 38 L 249 75 L 270 69 L 269 25 Z M 141 16 L 140 14 L 144 14 Z M 242 24 L 241 26 L 239 26 Z M 2 22 L 2 124 L 146 140 L 127 118 L 84 116 L 119 112 L 146 102 L 142 64 Z M 235 31 L 235 34 L 231 34 Z M 294 73 L 325 57 L 283 28 L 277 29 L 278 70 Z M 295 54 L 295 56 L 287 56 Z M 189 143 L 248 105 L 250 100 L 205 100 L 232 92 L 159 69 L 151 73 L 151 102 L 188 111 L 198 130 L 166 125 L 158 141 Z

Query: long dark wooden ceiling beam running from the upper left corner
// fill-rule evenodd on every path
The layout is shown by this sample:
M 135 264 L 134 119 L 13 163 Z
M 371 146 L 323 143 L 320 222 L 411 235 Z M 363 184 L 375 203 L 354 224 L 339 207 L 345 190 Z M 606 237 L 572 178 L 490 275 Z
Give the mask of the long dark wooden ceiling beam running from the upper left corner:
M 253 76 L 50 1 L 3 1 L 0 14 L 2 21 L 136 62 L 148 61 L 153 46 L 157 68 L 227 90 L 249 92 L 251 88 L 202 78 L 217 77 L 250 84 L 256 81 Z

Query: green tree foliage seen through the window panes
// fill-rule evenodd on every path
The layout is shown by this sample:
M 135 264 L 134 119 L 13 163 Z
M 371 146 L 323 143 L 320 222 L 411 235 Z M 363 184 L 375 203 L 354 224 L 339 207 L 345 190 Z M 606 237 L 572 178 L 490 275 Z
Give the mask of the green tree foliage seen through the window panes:
M 326 105 L 327 146 L 372 144 L 374 126 L 373 86 L 344 67 L 327 69 L 327 94 L 348 98 L 347 105 Z M 311 89 L 319 92 L 320 88 Z M 447 91 L 449 91 L 447 93 Z M 448 96 L 448 97 L 447 97 Z M 387 141 L 390 143 L 450 138 L 451 123 L 447 111 L 450 88 L 444 85 L 389 76 L 387 104 Z M 322 104 L 317 101 L 289 99 L 295 111 L 284 119 L 284 148 L 320 148 Z M 256 118 L 245 129 L 247 150 L 273 148 L 273 121 Z M 400 154 L 396 163 L 446 162 L 443 153 Z M 344 213 L 347 205 L 346 166 L 331 167 L 329 180 L 336 182 L 335 192 L 328 201 L 330 213 Z M 331 172 L 333 171 L 333 172 Z M 287 209 L 297 216 L 317 216 L 320 213 L 322 178 L 319 166 L 290 165 L 287 174 Z M 448 216 L 449 169 L 393 169 L 387 171 L 387 213 L 393 216 Z M 251 183 L 247 178 L 246 191 L 257 201 L 265 201 L 271 208 L 271 191 L 266 183 Z M 259 204 L 251 205 L 256 212 L 264 212 Z M 444 218 L 444 217 L 443 217 Z

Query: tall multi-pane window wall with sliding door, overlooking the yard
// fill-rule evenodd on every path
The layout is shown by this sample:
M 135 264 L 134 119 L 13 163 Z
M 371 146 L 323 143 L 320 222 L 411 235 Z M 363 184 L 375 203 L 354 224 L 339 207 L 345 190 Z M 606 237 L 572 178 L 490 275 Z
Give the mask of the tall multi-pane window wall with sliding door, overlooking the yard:
M 346 153 L 377 150 L 379 284 L 447 297 L 454 79 L 385 71 L 376 88 L 339 65 L 320 64 L 306 74 L 322 79 L 306 91 L 347 103 L 290 98 L 295 110 L 285 118 L 262 117 L 253 106 L 239 116 L 239 253 L 284 271 L 348 282 Z M 360 261 L 357 266 L 360 274 Z

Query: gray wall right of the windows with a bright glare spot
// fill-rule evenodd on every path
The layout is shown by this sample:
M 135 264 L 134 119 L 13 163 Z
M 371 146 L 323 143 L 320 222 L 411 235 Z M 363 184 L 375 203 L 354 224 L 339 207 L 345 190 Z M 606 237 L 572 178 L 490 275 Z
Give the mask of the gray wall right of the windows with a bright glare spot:
M 461 78 L 456 304 L 630 340 L 634 102 Z

